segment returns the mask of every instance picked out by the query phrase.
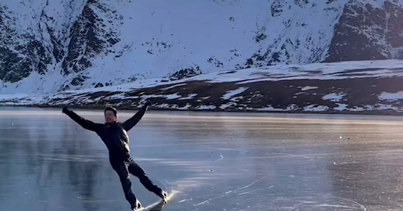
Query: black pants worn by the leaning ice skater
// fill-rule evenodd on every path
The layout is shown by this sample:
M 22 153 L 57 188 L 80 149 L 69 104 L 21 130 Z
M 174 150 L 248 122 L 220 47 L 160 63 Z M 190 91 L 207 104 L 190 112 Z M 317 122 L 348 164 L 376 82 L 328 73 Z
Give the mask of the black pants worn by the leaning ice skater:
M 157 196 L 161 197 L 161 188 L 156 186 L 150 178 L 148 178 L 147 174 L 145 174 L 144 170 L 137 164 L 133 159 L 130 159 L 129 162 L 116 162 L 110 160 L 110 164 L 112 168 L 118 173 L 120 182 L 122 183 L 123 192 L 125 193 L 126 200 L 130 203 L 131 209 L 135 208 L 136 197 L 131 190 L 131 181 L 130 174 L 139 178 L 141 184 L 148 191 L 155 193 Z

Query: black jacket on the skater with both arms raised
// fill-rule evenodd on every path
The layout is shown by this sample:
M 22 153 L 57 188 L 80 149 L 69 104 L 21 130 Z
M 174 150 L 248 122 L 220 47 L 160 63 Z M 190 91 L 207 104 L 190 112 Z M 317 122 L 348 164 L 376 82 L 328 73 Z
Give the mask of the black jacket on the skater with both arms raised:
M 127 131 L 140 121 L 146 110 L 146 107 L 141 108 L 140 111 L 124 123 L 116 122 L 104 124 L 94 123 L 84 119 L 69 109 L 63 109 L 63 113 L 81 125 L 81 127 L 94 131 L 101 137 L 106 147 L 108 147 L 110 162 L 129 162 L 130 149 Z

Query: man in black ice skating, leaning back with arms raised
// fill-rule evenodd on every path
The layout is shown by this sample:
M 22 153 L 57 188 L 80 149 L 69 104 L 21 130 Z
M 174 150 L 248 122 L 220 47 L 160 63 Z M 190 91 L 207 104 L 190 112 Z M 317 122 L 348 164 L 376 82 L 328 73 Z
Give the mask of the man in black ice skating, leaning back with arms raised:
M 109 151 L 109 161 L 112 168 L 118 173 L 120 182 L 122 183 L 123 192 L 126 200 L 130 203 L 132 210 L 142 208 L 141 203 L 137 200 L 131 190 L 130 174 L 139 178 L 141 184 L 148 191 L 155 193 L 158 197 L 165 201 L 166 192 L 156 186 L 150 178 L 145 174 L 144 170 L 131 158 L 129 150 L 129 137 L 127 131 L 134 127 L 143 117 L 150 102 L 138 111 L 133 117 L 124 123 L 118 122 L 117 111 L 113 107 L 106 107 L 104 110 L 105 123 L 93 123 L 83 117 L 80 117 L 73 111 L 63 108 L 63 113 L 77 122 L 81 127 L 94 131 L 100 136 Z

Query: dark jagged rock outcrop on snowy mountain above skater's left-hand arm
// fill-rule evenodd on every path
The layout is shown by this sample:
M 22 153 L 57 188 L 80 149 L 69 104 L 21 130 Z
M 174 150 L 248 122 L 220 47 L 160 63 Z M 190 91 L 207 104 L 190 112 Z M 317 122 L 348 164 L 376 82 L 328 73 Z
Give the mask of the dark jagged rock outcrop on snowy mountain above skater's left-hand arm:
M 79 73 L 92 66 L 93 57 L 110 52 L 108 48 L 120 41 L 118 26 L 121 19 L 113 4 L 87 1 L 83 12 L 70 28 L 70 42 L 62 61 L 63 75 Z M 85 75 L 78 75 L 70 84 L 77 86 L 85 79 Z M 69 89 L 69 85 L 63 89 Z

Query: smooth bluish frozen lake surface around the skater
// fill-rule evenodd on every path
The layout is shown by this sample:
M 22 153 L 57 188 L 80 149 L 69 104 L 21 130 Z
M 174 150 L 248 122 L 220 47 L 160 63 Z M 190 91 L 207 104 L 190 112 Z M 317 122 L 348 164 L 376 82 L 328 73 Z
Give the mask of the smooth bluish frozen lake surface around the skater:
M 149 112 L 129 135 L 150 178 L 181 191 L 166 211 L 398 211 L 402 120 Z M 60 109 L 0 107 L 0 131 L 0 210 L 129 210 L 102 141 Z

